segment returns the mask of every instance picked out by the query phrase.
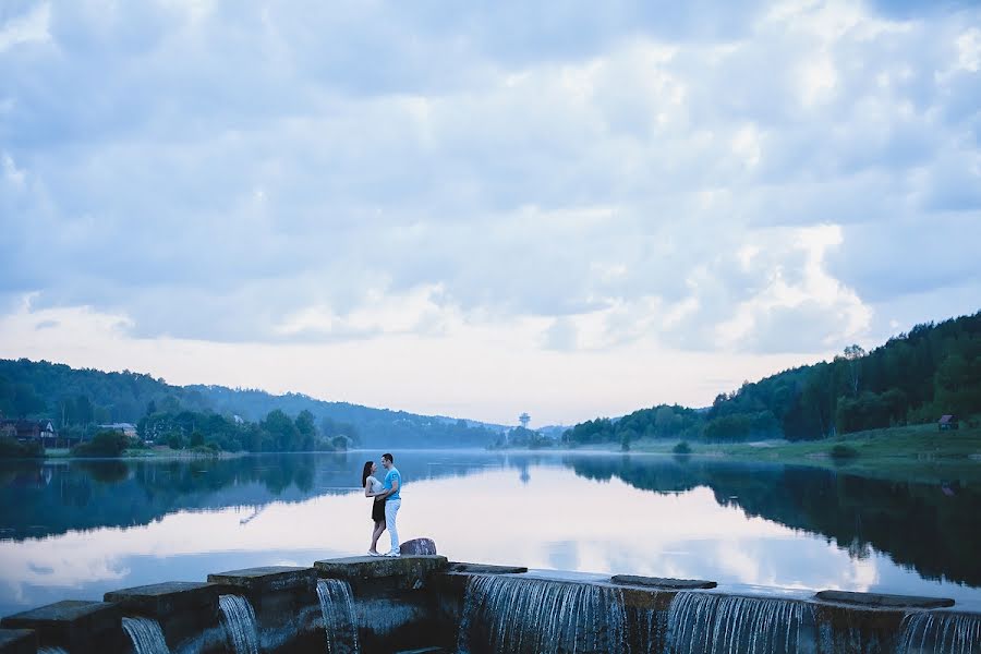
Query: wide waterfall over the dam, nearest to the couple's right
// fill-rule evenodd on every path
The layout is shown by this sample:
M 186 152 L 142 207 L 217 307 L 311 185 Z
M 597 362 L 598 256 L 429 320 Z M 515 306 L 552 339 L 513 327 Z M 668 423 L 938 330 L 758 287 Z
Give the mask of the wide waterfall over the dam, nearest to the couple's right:
M 459 654 L 606 653 L 627 649 L 619 589 L 498 574 L 470 578 Z

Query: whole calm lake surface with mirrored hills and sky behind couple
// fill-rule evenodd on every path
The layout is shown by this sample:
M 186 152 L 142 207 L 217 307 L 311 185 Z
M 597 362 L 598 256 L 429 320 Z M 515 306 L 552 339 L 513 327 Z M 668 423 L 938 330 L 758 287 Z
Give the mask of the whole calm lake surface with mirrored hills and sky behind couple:
M 0 616 L 364 554 L 371 504 L 358 483 L 378 455 L 4 464 Z M 397 464 L 401 538 L 433 537 L 456 560 L 981 607 L 977 483 L 661 456 L 428 451 L 397 452 Z

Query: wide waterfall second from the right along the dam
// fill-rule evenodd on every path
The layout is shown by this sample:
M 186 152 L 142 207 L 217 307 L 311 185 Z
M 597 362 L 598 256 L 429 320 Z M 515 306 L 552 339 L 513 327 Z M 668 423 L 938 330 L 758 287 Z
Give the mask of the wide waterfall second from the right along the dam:
M 670 654 L 790 654 L 816 642 L 814 609 L 800 602 L 678 593 L 668 609 Z

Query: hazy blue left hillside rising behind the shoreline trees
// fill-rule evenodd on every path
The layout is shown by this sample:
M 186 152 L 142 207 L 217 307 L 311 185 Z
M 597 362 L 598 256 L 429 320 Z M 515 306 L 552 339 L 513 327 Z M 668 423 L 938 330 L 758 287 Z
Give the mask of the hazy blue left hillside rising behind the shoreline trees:
M 258 389 L 223 386 L 174 386 L 152 375 L 106 373 L 27 359 L 0 359 L 0 413 L 10 417 L 48 417 L 58 428 L 129 422 L 148 411 L 213 412 L 251 422 L 281 410 L 290 416 L 310 411 L 319 427 L 353 425 L 358 445 L 400 447 L 484 447 L 504 425 L 439 415 L 327 402 L 301 393 L 275 396 Z M 323 429 L 326 433 L 330 428 Z

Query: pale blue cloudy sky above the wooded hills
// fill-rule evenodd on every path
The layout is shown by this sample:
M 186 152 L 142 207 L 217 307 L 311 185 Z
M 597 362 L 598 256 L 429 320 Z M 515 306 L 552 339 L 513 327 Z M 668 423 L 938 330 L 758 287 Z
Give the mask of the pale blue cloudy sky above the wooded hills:
M 532 426 L 981 308 L 971 2 L 0 1 L 0 356 Z

